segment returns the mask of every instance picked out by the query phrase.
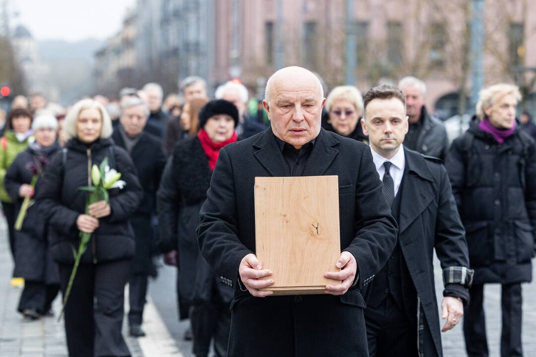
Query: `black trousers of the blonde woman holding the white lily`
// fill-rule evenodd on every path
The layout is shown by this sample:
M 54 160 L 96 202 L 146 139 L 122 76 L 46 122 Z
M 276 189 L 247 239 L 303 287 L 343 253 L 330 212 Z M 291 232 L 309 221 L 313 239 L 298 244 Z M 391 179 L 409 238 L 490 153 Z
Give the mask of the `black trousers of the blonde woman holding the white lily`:
M 71 357 L 130 356 L 121 334 L 130 260 L 80 264 L 65 307 Z M 65 293 L 72 265 L 59 265 Z

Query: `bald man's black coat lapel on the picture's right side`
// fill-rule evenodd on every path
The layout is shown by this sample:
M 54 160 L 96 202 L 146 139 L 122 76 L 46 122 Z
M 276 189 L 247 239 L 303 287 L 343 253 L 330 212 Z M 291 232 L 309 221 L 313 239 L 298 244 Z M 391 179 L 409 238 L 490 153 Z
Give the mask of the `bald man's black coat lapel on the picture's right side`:
M 303 176 L 322 176 L 339 153 L 339 150 L 334 148 L 338 143 L 339 141 L 321 128 L 303 170 Z

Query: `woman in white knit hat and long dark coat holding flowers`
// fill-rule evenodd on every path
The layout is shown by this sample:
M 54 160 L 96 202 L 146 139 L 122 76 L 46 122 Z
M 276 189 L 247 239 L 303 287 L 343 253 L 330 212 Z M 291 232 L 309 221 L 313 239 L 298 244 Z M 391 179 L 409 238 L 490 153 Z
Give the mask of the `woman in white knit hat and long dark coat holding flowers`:
M 49 254 L 46 224 L 32 205 L 35 182 L 49 158 L 59 149 L 58 123 L 54 116 L 40 115 L 32 123 L 35 141 L 14 159 L 5 175 L 4 186 L 15 205 L 15 270 L 25 279 L 18 311 L 35 320 L 50 314 L 50 305 L 59 290 L 57 265 Z M 26 203 L 25 203 L 26 202 Z M 17 224 L 16 224 L 17 226 Z

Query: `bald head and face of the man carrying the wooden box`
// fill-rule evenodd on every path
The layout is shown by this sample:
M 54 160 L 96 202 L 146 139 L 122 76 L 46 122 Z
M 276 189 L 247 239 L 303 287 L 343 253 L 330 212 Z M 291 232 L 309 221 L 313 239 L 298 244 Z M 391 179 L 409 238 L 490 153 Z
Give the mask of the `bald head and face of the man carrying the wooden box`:
M 270 103 L 264 101 L 264 109 L 274 135 L 301 149 L 318 136 L 326 100 L 313 74 L 301 71 L 279 74 L 272 78 Z

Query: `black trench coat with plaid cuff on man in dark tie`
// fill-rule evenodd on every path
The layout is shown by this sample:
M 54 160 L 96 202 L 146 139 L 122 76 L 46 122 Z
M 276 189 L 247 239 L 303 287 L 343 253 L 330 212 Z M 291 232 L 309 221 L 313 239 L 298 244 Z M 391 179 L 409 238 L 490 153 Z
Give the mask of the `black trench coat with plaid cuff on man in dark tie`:
M 398 241 L 410 273 L 409 277 L 402 274 L 403 285 L 407 281 L 404 279 L 411 279 L 407 283 L 413 284 L 418 294 L 418 301 L 404 303 L 407 311 L 417 312 L 410 320 L 420 327 L 420 351 L 435 350 L 435 355 L 442 356 L 434 283 L 434 248 L 443 269 L 443 294 L 467 302 L 468 286 L 473 276 L 468 269 L 465 231 L 452 195 L 449 176 L 441 161 L 407 148 L 404 148 L 404 154 L 406 168 L 398 191 L 401 195 Z M 364 289 L 367 303 L 375 298 L 370 294 L 375 283 Z M 417 309 L 415 304 L 418 305 Z M 424 320 L 419 321 L 421 316 Z M 425 344 L 433 347 L 425 348 Z M 428 354 L 425 353 L 426 356 Z

